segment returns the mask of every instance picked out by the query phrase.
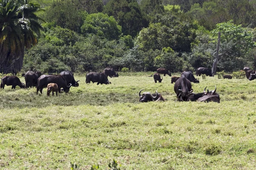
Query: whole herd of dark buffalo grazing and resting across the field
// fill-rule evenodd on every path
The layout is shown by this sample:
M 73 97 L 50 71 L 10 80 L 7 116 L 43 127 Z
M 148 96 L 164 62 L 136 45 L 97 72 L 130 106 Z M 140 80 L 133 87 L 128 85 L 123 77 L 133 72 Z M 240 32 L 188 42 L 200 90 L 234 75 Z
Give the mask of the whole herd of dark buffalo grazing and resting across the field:
M 244 71 L 247 79 L 256 79 L 256 71 L 250 70 L 248 67 L 244 67 Z M 195 72 L 196 76 L 201 76 L 201 74 L 210 77 L 214 76 L 209 68 L 200 67 L 197 68 Z M 163 74 L 163 76 L 166 76 L 166 74 L 172 76 L 166 68 L 158 68 L 157 73 L 153 75 L 154 82 L 162 82 L 163 77 L 161 78 L 160 74 Z M 108 76 L 118 77 L 119 75 L 113 68 L 105 68 L 103 72 L 87 73 L 85 82 L 97 82 L 97 85 L 111 84 L 108 80 Z M 38 94 L 38 91 L 42 94 L 43 88 L 47 88 L 47 96 L 49 96 L 50 92 L 52 92 L 52 96 L 54 92 L 56 92 L 56 96 L 58 96 L 58 92 L 61 93 L 64 91 L 67 93 L 71 86 L 79 86 L 79 80 L 76 81 L 74 79 L 74 74 L 71 71 L 62 71 L 59 75 L 42 75 L 40 71 L 27 71 L 26 74 L 24 74 L 24 78 L 26 84 L 20 82 L 20 79 L 16 76 L 4 76 L 1 78 L 0 88 L 4 89 L 5 85 L 11 85 L 12 89 L 15 89 L 16 86 L 20 88 L 36 87 L 36 94 Z M 232 76 L 224 75 L 223 78 L 232 79 Z M 193 93 L 191 82 L 199 83 L 199 80 L 194 77 L 191 71 L 184 71 L 181 73 L 180 77 L 172 76 L 171 79 L 171 83 L 175 83 L 174 91 L 178 101 L 220 102 L 220 96 L 216 93 L 216 86 L 215 90 L 212 91 L 208 89 L 206 91 L 207 87 L 205 87 L 203 93 Z M 151 94 L 150 92 L 141 94 L 141 91 L 139 92 L 140 102 L 165 101 L 163 96 L 157 91 L 155 94 Z

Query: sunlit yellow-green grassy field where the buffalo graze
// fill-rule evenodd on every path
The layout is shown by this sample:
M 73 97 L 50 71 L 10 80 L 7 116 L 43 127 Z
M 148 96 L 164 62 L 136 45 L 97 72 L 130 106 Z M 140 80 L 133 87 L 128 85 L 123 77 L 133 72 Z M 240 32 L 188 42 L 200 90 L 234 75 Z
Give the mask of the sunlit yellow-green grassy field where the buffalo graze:
M 111 85 L 75 76 L 79 87 L 58 97 L 1 89 L 0 169 L 105 170 L 113 159 L 121 170 L 255 169 L 255 81 L 200 77 L 194 92 L 216 85 L 221 102 L 177 102 L 171 77 L 151 74 L 119 73 Z M 141 89 L 166 102 L 140 103 Z

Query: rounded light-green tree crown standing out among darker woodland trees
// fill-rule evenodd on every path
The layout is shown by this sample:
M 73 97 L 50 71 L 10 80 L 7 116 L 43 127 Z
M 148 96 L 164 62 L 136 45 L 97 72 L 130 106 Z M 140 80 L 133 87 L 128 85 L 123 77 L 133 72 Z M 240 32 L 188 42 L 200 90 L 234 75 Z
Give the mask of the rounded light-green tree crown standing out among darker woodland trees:
M 108 40 L 118 40 L 121 35 L 121 26 L 117 24 L 114 17 L 97 13 L 87 15 L 81 31 L 83 34 L 93 33 Z

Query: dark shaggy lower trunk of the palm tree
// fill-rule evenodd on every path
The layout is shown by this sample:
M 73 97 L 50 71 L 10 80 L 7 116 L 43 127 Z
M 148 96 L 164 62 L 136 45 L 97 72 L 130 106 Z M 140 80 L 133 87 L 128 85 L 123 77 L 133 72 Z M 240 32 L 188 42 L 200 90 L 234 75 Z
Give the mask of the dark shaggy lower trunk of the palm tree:
M 17 57 L 18 56 L 18 57 Z M 3 74 L 17 74 L 23 66 L 24 48 L 21 48 L 19 54 L 0 53 L 0 72 Z

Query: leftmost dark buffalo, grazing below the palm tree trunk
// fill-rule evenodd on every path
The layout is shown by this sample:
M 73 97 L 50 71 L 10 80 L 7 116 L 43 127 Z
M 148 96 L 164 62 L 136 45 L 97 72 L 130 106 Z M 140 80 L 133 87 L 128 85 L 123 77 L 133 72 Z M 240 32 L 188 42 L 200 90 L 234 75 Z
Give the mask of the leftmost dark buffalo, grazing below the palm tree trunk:
M 20 88 L 26 88 L 26 85 L 23 82 L 20 82 L 20 79 L 17 76 L 2 77 L 0 88 L 4 89 L 5 85 L 11 85 L 12 89 L 15 89 L 17 85 L 20 86 Z

